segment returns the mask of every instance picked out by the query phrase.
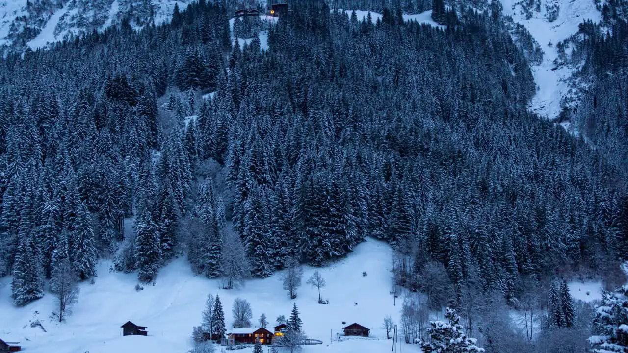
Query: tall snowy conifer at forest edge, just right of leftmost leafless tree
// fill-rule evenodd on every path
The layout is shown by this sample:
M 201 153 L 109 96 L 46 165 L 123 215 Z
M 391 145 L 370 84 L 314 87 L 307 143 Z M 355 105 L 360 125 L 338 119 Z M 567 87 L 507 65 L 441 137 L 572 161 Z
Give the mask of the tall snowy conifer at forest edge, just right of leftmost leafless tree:
M 70 234 L 70 261 L 80 280 L 96 274 L 96 247 L 92 217 L 85 202 L 78 205 L 75 227 Z

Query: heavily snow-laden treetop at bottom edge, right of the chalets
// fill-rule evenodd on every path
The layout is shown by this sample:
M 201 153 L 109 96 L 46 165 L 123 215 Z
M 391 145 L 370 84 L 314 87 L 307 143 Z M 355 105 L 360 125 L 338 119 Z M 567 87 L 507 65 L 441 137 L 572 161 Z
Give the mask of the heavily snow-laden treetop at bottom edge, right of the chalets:
M 464 327 L 460 325 L 456 310 L 447 308 L 445 319 L 446 322 L 430 322 L 430 327 L 427 328 L 430 340 L 421 339 L 420 342 L 423 353 L 484 352 L 483 348 L 475 345 L 476 339 L 468 338 L 464 334 Z

